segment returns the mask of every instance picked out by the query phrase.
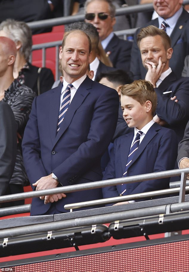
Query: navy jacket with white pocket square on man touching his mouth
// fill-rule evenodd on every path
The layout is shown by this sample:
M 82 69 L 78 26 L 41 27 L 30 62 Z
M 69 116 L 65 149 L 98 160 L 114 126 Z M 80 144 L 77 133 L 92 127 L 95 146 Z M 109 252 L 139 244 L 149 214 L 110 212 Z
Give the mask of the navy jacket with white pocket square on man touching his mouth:
M 168 123 L 166 127 L 176 132 L 180 141 L 189 119 L 189 77 L 177 77 L 172 72 L 158 88 L 155 88 L 155 91 L 157 93 L 156 113 L 159 118 Z M 173 96 L 178 99 L 177 103 L 170 100 Z

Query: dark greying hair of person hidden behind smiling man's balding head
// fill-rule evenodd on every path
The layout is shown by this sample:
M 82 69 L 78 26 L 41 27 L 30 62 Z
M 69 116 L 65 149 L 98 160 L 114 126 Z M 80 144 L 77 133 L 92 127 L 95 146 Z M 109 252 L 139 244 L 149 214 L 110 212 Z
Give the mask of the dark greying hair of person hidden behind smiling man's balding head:
M 96 27 L 94 27 L 94 25 L 87 22 L 75 22 L 69 25 L 65 25 L 65 29 L 64 29 L 65 32 L 69 32 L 72 30 L 81 30 L 85 32 L 91 39 L 92 50 L 97 49 L 98 42 L 99 42 L 99 34 Z

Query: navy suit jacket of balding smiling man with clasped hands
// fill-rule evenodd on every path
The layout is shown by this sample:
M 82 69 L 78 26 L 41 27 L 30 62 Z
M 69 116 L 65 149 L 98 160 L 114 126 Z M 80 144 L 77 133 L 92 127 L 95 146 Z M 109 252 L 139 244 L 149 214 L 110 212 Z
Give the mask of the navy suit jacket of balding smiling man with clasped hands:
M 61 86 L 36 97 L 22 141 L 24 165 L 30 183 L 53 172 L 63 186 L 102 179 L 100 159 L 115 132 L 119 96 L 88 77 L 81 83 L 70 103 L 60 130 L 56 133 Z M 101 189 L 67 193 L 55 203 L 64 204 L 102 197 Z M 34 198 L 31 214 L 43 214 L 44 205 Z

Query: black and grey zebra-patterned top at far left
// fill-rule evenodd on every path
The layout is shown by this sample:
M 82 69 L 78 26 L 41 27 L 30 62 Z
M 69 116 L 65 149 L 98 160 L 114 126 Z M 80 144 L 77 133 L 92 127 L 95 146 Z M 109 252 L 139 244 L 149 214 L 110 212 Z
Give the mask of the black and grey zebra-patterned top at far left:
M 5 91 L 4 98 L 2 99 L 2 101 L 7 102 L 13 110 L 17 124 L 17 132 L 21 136 L 23 136 L 25 126 L 29 119 L 32 102 L 35 96 L 36 94 L 32 89 L 23 84 L 21 85 L 18 80 L 15 79 Z M 19 141 L 17 144 L 15 168 L 10 183 L 24 185 L 27 183 L 27 180 L 28 178 L 22 159 L 21 141 Z

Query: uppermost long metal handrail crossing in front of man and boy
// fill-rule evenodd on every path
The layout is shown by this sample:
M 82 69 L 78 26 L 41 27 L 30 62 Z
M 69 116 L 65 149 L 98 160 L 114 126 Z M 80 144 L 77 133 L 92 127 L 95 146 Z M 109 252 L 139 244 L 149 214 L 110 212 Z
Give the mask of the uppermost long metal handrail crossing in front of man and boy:
M 188 174 L 189 168 L 174 169 L 174 170 L 148 173 L 148 174 L 142 174 L 142 175 L 134 175 L 131 177 L 126 177 L 126 178 L 113 178 L 113 179 L 104 180 L 104 181 L 93 181 L 88 183 L 74 184 L 69 186 L 63 186 L 63 187 L 57 187 L 57 188 L 39 190 L 39 191 L 33 191 L 33 192 L 3 195 L 3 196 L 0 196 L 0 203 L 13 201 L 13 200 L 20 200 L 24 198 L 39 197 L 44 195 L 77 192 L 77 191 L 83 191 L 83 190 L 89 190 L 89 189 L 95 189 L 95 188 L 102 188 L 102 187 L 113 186 L 113 185 L 118 185 L 122 183 L 128 184 L 128 183 L 133 183 L 138 181 L 175 177 L 175 176 L 182 175 L 182 173 Z

